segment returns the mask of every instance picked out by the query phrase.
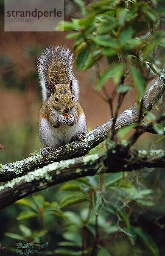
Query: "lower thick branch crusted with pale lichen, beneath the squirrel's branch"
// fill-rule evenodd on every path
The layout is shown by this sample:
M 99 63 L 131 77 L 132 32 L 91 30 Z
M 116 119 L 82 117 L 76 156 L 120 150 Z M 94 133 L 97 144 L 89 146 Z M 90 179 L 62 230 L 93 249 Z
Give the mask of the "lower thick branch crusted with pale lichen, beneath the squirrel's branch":
M 116 152 L 114 152 L 114 149 Z M 0 209 L 55 184 L 78 177 L 95 175 L 98 170 L 100 174 L 126 172 L 144 167 L 165 168 L 164 150 L 151 150 L 149 153 L 145 150 L 129 151 L 126 157 L 123 157 L 123 152 L 125 152 L 125 146 L 112 142 L 111 149 L 107 153 L 87 155 L 52 163 L 42 169 L 28 172 L 22 177 L 14 178 L 5 185 L 0 186 Z

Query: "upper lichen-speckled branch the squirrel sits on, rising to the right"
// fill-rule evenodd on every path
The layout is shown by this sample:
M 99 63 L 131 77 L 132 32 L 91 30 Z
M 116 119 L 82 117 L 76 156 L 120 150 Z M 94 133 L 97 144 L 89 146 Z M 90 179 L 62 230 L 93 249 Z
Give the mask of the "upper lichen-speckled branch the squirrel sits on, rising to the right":
M 159 73 L 152 81 L 149 82 L 146 93 L 143 98 L 143 118 L 165 91 L 165 72 Z M 137 103 L 131 108 L 123 111 L 115 122 L 115 132 L 127 125 L 134 124 L 138 121 Z M 113 118 L 108 122 L 88 132 L 85 139 L 81 142 L 73 142 L 63 147 L 50 151 L 47 157 L 41 154 L 28 157 L 14 163 L 7 163 L 0 166 L 0 182 L 12 180 L 15 177 L 21 177 L 35 169 L 42 168 L 49 163 L 60 160 L 81 157 L 87 154 L 92 148 L 103 142 L 109 130 L 112 127 Z

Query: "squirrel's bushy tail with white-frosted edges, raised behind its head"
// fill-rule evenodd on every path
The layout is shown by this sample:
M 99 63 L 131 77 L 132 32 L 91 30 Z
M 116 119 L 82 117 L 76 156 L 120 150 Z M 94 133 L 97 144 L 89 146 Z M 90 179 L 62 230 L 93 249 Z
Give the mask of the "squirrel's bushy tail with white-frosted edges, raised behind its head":
M 78 100 L 78 81 L 73 73 L 73 54 L 62 46 L 47 47 L 38 58 L 38 72 L 42 87 L 43 102 L 50 95 L 49 81 L 54 84 L 69 84 L 73 79 L 73 94 Z

